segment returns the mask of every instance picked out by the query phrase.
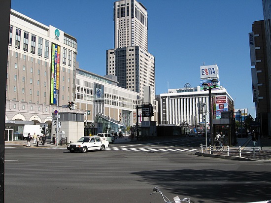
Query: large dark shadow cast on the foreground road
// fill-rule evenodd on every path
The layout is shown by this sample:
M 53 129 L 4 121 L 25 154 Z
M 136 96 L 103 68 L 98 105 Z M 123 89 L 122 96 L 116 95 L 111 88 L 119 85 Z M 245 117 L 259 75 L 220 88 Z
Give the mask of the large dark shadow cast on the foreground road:
M 271 199 L 270 171 L 181 169 L 140 171 L 133 174 L 142 176 L 144 181 L 158 186 L 162 192 L 167 190 L 180 198 L 195 198 L 201 203 L 210 200 L 216 203 L 246 203 Z

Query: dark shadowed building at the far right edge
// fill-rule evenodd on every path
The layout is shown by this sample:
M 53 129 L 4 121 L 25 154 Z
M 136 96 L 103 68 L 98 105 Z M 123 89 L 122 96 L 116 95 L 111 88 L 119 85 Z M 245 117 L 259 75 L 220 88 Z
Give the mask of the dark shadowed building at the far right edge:
M 256 108 L 256 122 L 260 123 L 261 135 L 271 135 L 270 80 L 268 73 L 268 51 L 264 21 L 252 24 L 249 33 L 251 56 L 252 95 Z M 268 128 L 266 128 L 268 126 Z

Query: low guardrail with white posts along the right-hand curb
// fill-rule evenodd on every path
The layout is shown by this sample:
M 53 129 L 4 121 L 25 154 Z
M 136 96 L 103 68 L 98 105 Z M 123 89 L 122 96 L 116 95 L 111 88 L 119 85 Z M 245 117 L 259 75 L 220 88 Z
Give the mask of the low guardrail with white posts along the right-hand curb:
M 219 154 L 226 156 L 238 156 L 256 159 L 256 153 L 260 152 L 258 147 L 230 147 L 211 146 L 201 144 L 201 152 L 206 154 Z

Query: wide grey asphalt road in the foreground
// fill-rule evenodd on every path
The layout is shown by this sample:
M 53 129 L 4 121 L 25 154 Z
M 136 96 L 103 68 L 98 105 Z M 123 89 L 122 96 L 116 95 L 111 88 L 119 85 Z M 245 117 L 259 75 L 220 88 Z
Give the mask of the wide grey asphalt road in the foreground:
M 134 144 L 134 143 L 133 143 Z M 138 143 L 139 144 L 139 143 Z M 131 144 L 110 145 L 129 148 Z M 180 147 L 180 143 L 140 143 Z M 178 145 L 178 146 L 175 146 Z M 138 146 L 142 147 L 142 146 Z M 5 149 L 5 203 L 246 203 L 271 199 L 270 162 L 196 156 L 195 151 Z

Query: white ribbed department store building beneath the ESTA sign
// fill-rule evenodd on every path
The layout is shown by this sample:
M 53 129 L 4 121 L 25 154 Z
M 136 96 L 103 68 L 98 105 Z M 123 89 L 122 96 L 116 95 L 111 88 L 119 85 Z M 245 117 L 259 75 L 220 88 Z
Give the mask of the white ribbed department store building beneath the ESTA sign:
M 227 90 L 223 87 L 213 89 L 211 92 L 213 119 L 221 117 L 221 111 L 233 111 L 234 102 Z M 210 112 L 208 92 L 202 91 L 201 87 L 186 87 L 179 89 L 169 89 L 168 93 L 160 94 L 160 124 L 164 125 L 188 125 L 195 127 L 204 123 L 205 113 L 200 112 L 199 102 L 206 105 L 206 110 Z M 223 104 L 222 106 L 220 106 Z M 209 113 L 206 113 L 206 123 L 210 121 Z

